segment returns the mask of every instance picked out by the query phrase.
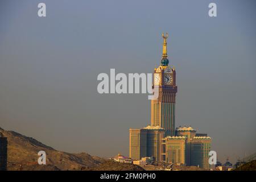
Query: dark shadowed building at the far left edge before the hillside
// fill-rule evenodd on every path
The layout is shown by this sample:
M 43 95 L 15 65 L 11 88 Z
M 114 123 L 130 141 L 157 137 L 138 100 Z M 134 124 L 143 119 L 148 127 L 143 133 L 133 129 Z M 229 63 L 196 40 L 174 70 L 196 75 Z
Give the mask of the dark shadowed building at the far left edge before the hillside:
M 0 171 L 7 170 L 7 138 L 0 133 Z

